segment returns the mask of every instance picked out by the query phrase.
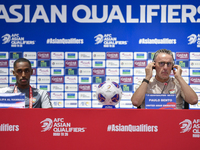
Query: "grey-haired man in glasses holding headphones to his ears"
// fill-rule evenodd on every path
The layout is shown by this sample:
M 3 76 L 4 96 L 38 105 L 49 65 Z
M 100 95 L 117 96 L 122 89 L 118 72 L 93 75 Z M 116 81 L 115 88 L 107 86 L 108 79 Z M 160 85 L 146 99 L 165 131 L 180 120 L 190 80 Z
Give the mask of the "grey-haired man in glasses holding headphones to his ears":
M 152 77 L 153 69 L 156 70 L 155 77 Z M 171 70 L 174 77 L 170 77 Z M 198 102 L 197 94 L 181 76 L 181 66 L 174 65 L 170 50 L 158 50 L 153 61 L 146 66 L 145 72 L 146 77 L 131 98 L 134 106 L 145 108 L 145 94 L 176 94 L 177 109 L 183 108 L 183 99 L 189 104 Z

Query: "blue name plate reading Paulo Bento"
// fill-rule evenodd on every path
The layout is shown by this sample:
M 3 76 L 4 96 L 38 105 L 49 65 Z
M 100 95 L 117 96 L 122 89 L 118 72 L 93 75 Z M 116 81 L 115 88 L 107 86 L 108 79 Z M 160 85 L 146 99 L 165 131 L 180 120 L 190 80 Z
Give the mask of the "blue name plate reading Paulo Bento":
M 145 94 L 145 109 L 176 109 L 176 94 Z

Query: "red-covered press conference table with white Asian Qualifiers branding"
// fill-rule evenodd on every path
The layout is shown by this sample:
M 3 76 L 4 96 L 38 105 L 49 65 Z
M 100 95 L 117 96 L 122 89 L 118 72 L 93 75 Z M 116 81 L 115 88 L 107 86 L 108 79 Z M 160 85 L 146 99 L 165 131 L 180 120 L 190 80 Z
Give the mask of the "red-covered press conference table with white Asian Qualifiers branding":
M 199 149 L 199 110 L 0 109 L 1 149 Z

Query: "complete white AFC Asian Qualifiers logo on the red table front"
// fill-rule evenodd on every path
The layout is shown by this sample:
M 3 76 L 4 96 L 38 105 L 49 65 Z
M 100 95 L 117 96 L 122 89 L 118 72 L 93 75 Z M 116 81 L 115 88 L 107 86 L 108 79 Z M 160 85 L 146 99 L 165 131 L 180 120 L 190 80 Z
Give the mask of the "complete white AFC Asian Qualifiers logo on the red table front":
M 65 122 L 64 118 L 46 118 L 40 122 L 41 132 L 53 132 L 53 136 L 69 136 L 72 133 L 83 133 L 85 127 L 72 127 L 71 122 Z

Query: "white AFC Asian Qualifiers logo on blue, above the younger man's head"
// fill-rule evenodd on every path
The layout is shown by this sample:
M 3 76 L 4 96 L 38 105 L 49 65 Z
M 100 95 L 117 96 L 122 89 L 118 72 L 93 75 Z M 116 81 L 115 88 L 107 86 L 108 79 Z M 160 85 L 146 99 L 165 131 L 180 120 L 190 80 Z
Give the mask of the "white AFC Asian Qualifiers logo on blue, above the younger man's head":
M 27 41 L 24 37 L 20 37 L 19 33 L 8 34 L 6 33 L 2 37 L 2 44 L 11 43 L 11 47 L 23 47 L 24 45 L 34 45 L 35 41 Z

